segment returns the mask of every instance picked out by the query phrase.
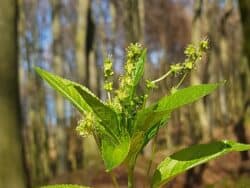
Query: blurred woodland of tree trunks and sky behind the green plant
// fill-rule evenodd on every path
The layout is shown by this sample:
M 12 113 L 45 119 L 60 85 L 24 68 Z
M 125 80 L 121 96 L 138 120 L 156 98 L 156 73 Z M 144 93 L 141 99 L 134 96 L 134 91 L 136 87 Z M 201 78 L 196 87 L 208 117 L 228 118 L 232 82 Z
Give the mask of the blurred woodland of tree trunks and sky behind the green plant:
M 183 84 L 224 87 L 175 111 L 157 138 L 157 164 L 184 145 L 231 138 L 250 142 L 249 0 L 1 0 L 0 187 L 78 183 L 112 187 L 94 139 L 75 132 L 81 114 L 35 73 L 40 66 L 103 92 L 103 59 L 123 72 L 131 42 L 148 48 L 145 78 L 184 60 L 187 44 L 208 38 L 210 50 Z M 161 82 L 152 101 L 175 77 Z M 143 182 L 152 146 L 136 168 Z M 195 168 L 168 187 L 250 187 L 250 154 L 232 154 Z M 143 168 L 142 168 L 143 167 Z M 125 182 L 123 169 L 117 178 Z M 138 187 L 142 184 L 139 184 Z

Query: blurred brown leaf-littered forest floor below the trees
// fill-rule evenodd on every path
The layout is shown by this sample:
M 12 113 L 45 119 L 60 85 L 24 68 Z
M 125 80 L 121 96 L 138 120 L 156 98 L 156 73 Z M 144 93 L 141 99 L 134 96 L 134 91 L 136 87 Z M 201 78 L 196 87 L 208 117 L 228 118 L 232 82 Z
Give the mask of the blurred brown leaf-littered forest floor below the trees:
M 217 139 L 237 140 L 233 133 L 233 126 L 226 129 L 215 128 L 214 137 Z M 225 137 L 226 135 L 226 137 Z M 246 126 L 246 138 L 250 139 L 250 124 Z M 250 153 L 248 153 L 250 155 Z M 158 152 L 156 163 L 166 156 L 166 152 Z M 136 188 L 148 188 L 149 180 L 146 177 L 148 160 L 141 156 L 135 169 Z M 124 167 L 115 170 L 116 178 L 121 185 L 127 187 L 126 170 Z M 63 174 L 49 183 L 75 183 L 91 185 L 93 188 L 112 188 L 110 175 L 105 173 L 102 166 L 92 166 L 87 170 L 78 170 L 70 174 Z M 166 188 L 250 188 L 250 160 L 242 161 L 240 153 L 230 153 L 208 164 L 195 168 L 186 174 L 173 179 Z

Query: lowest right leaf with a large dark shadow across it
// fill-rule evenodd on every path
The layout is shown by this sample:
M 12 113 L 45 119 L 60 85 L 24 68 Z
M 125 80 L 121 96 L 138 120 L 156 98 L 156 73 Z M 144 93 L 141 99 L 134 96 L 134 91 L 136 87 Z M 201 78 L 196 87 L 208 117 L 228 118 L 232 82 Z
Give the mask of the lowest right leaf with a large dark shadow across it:
M 233 141 L 216 141 L 209 144 L 193 145 L 172 154 L 162 161 L 153 176 L 151 186 L 160 187 L 172 178 L 190 168 L 206 163 L 232 151 L 250 150 L 250 144 Z

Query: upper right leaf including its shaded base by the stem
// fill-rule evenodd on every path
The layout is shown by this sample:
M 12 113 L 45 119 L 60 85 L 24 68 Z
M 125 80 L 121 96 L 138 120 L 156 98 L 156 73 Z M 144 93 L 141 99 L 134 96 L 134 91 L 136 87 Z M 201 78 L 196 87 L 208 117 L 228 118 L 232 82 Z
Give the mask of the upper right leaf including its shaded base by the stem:
M 143 146 L 156 135 L 160 127 L 167 123 L 172 110 L 208 95 L 219 85 L 202 84 L 180 89 L 174 94 L 163 97 L 148 108 L 139 111 L 135 123 L 135 132 L 145 132 Z

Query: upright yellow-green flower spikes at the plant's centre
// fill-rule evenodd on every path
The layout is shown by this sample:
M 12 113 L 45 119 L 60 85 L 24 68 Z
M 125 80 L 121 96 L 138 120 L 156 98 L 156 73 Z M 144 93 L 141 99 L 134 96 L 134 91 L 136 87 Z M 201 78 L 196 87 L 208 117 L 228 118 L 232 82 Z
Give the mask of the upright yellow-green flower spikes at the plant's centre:
M 136 83 L 134 83 L 136 67 L 140 58 L 143 56 L 144 48 L 142 45 L 135 43 L 130 44 L 126 49 L 126 60 L 124 65 L 124 74 L 119 78 L 119 88 L 113 91 L 112 60 L 109 56 L 104 61 L 104 89 L 108 92 L 108 104 L 122 116 L 133 119 L 136 111 L 142 107 L 147 95 L 137 96 Z M 113 98 L 111 99 L 111 97 Z

